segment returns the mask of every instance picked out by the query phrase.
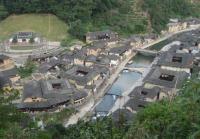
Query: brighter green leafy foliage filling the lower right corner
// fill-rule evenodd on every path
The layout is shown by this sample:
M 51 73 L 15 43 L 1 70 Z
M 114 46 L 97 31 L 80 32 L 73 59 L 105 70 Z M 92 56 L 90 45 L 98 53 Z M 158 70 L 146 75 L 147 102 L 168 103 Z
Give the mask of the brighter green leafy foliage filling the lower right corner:
M 158 102 L 141 111 L 127 138 L 200 138 L 200 80 L 187 81 L 179 93 L 172 101 Z

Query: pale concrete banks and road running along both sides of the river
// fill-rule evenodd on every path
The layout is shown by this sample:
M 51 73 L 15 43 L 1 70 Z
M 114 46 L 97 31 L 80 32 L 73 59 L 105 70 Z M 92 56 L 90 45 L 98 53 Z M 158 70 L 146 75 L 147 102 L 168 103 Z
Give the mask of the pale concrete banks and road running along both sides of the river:
M 190 28 L 190 29 L 186 29 L 186 30 L 182 30 L 179 32 L 175 32 L 172 34 L 168 34 L 167 36 L 161 37 L 158 40 L 149 43 L 147 45 L 144 45 L 143 47 L 141 47 L 142 49 L 148 48 L 154 44 L 157 44 L 161 41 L 164 41 L 170 37 L 172 37 L 175 34 L 179 34 L 182 32 L 187 32 L 187 31 L 191 31 L 191 30 L 195 30 L 197 28 Z M 110 78 L 105 82 L 105 85 L 98 90 L 98 93 L 95 97 L 90 97 L 88 102 L 82 106 L 79 110 L 79 112 L 76 115 L 72 115 L 69 120 L 67 120 L 64 125 L 65 127 L 69 126 L 70 124 L 75 124 L 79 119 L 84 119 L 85 117 L 87 117 L 88 115 L 91 115 L 94 112 L 95 107 L 101 102 L 102 100 L 102 96 L 104 96 L 104 94 L 108 91 L 108 87 L 110 87 L 114 81 L 116 80 L 116 78 L 119 76 L 120 72 L 124 69 L 124 67 L 126 66 L 126 64 L 131 60 L 131 58 L 135 55 L 135 53 L 131 54 L 131 56 L 129 56 L 128 58 L 126 58 L 124 61 L 121 62 L 120 65 L 118 65 L 117 69 L 115 70 L 114 73 L 112 73 L 112 75 L 110 76 Z M 154 60 L 154 62 L 152 64 L 154 64 L 156 62 L 157 59 Z M 147 69 L 145 69 L 144 73 L 143 73 L 143 77 L 150 71 L 151 66 Z M 142 79 L 138 80 L 137 83 L 135 83 L 133 85 L 133 87 L 131 87 L 128 91 L 123 93 L 124 97 L 121 97 L 119 100 L 117 100 L 117 102 L 115 103 L 115 105 L 113 106 L 113 108 L 110 110 L 110 112 L 113 112 L 114 110 L 116 110 L 117 108 L 119 108 L 119 105 L 123 106 L 123 104 L 125 102 L 128 101 L 128 97 L 127 95 L 134 89 L 134 87 L 136 87 L 137 85 L 140 85 L 142 83 Z

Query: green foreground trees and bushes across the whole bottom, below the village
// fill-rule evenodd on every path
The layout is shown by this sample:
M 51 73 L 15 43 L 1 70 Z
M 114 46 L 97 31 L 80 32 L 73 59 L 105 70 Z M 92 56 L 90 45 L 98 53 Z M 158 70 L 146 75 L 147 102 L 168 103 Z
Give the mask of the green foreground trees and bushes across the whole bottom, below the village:
M 200 80 L 188 80 L 180 90 L 179 96 L 173 100 L 163 100 L 149 105 L 129 124 L 123 119 L 114 123 L 110 118 L 105 118 L 88 122 L 79 121 L 68 128 L 64 128 L 60 123 L 50 123 L 44 130 L 37 128 L 37 124 L 27 115 L 16 111 L 10 104 L 15 95 L 11 95 L 8 99 L 1 98 L 0 101 L 0 138 L 199 139 L 199 92 Z

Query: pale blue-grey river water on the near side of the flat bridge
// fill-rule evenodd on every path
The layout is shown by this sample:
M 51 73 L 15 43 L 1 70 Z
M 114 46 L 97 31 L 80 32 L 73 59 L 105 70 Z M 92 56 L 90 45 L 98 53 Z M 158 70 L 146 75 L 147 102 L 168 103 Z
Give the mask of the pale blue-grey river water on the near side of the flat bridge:
M 137 54 L 131 60 L 132 63 L 127 64 L 127 67 L 145 68 L 152 63 L 153 59 L 153 57 Z M 102 98 L 102 101 L 96 106 L 95 111 L 97 116 L 106 116 L 109 110 L 113 107 L 117 98 L 120 97 L 123 92 L 129 90 L 141 77 L 142 75 L 137 72 L 121 72 L 118 79 L 113 83 L 111 88 Z

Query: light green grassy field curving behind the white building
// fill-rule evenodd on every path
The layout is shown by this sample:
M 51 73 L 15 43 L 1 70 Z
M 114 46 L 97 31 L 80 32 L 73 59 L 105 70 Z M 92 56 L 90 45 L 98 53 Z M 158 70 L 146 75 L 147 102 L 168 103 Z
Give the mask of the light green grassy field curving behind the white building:
M 19 31 L 36 32 L 50 41 L 61 41 L 69 35 L 68 26 L 54 15 L 22 14 L 11 15 L 0 22 L 0 41 Z

